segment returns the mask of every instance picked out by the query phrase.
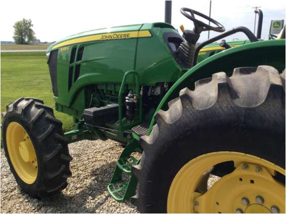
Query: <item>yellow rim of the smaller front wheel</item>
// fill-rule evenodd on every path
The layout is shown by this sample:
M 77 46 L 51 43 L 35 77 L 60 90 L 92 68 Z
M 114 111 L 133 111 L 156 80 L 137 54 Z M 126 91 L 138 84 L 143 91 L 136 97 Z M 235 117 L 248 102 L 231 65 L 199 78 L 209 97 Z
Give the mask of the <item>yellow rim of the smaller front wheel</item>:
M 7 150 L 20 179 L 32 184 L 37 177 L 37 158 L 30 136 L 17 122 L 11 122 L 6 132 Z

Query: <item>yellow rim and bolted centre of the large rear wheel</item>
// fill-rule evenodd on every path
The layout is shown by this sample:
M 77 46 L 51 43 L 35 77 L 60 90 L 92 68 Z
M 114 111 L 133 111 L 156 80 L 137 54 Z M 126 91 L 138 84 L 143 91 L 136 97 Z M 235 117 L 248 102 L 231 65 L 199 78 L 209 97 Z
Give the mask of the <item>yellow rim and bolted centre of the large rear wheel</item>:
M 207 181 L 213 166 L 233 161 L 235 170 L 212 187 Z M 256 156 L 216 152 L 186 163 L 171 184 L 169 213 L 285 213 L 285 186 L 273 179 L 285 169 Z

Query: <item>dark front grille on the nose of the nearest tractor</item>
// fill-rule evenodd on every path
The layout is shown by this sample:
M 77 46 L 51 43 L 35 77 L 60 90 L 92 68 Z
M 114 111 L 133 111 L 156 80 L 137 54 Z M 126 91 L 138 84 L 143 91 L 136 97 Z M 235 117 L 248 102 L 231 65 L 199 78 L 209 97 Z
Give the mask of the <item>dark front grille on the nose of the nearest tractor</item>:
M 49 70 L 52 81 L 53 93 L 58 96 L 58 84 L 57 84 L 57 60 L 58 59 L 58 49 L 51 51 L 49 58 Z

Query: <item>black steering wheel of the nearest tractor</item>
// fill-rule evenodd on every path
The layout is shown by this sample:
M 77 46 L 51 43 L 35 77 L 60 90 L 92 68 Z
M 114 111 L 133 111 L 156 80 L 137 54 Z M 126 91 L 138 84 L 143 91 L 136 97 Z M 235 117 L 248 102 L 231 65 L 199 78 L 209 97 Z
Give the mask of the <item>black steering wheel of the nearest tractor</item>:
M 187 12 L 189 12 L 190 15 Z M 200 12 L 197 12 L 197 11 L 189 9 L 189 8 L 181 8 L 181 13 L 185 17 L 187 17 L 188 19 L 190 19 L 191 21 L 194 22 L 194 26 L 195 26 L 194 27 L 194 31 L 196 33 L 198 33 L 198 34 L 201 31 L 206 31 L 206 30 L 214 30 L 216 32 L 223 32 L 223 31 L 225 31 L 225 28 L 224 28 L 224 26 L 222 24 L 220 24 L 218 21 L 210 18 L 209 16 L 207 16 L 205 14 L 202 14 Z M 212 22 L 213 24 L 216 25 L 216 27 L 213 27 L 213 26 L 211 26 L 209 24 L 206 24 L 206 23 L 204 23 L 204 22 L 202 22 L 200 20 L 197 20 L 194 15 L 198 15 L 198 16 L 200 16 L 200 17 L 202 17 L 202 18 Z

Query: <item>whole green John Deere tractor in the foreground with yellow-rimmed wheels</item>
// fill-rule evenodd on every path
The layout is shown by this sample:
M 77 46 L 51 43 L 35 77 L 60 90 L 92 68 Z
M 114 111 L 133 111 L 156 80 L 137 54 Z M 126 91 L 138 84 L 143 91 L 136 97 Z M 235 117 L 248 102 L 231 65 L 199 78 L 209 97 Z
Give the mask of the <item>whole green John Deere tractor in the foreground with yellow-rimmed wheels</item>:
M 125 148 L 107 189 L 140 212 L 285 212 L 285 34 L 259 41 L 246 27 L 225 31 L 207 15 L 181 13 L 194 23 L 183 36 L 145 23 L 48 48 L 55 109 L 75 128 L 63 133 L 42 100 L 7 105 L 4 149 L 28 195 L 67 187 L 68 144 L 110 138 Z M 206 30 L 221 33 L 196 45 Z M 236 32 L 249 42 L 198 62 L 203 47 Z

